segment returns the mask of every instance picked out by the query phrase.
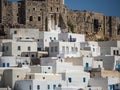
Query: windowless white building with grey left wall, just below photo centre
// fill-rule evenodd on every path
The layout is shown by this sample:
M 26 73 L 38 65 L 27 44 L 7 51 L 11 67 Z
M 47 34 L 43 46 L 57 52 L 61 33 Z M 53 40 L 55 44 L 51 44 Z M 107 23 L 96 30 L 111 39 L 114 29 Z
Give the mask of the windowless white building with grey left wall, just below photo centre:
M 82 65 L 73 65 L 72 62 L 65 62 L 63 58 L 41 58 L 42 66 L 52 66 L 54 73 L 65 73 L 66 70 L 83 70 Z

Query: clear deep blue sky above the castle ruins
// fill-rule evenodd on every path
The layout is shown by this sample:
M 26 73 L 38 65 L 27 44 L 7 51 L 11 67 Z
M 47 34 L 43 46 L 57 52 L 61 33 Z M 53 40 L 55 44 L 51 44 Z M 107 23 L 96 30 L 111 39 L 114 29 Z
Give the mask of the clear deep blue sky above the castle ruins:
M 73 10 L 89 10 L 120 17 L 120 0 L 65 0 L 65 4 Z

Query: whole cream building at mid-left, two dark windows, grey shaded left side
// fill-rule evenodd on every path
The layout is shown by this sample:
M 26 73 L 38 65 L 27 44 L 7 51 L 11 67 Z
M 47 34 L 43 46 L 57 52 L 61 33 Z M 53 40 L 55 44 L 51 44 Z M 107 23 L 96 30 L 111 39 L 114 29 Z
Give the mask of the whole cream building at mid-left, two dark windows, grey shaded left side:
M 3 43 L 3 56 L 36 57 L 37 42 L 29 39 Z

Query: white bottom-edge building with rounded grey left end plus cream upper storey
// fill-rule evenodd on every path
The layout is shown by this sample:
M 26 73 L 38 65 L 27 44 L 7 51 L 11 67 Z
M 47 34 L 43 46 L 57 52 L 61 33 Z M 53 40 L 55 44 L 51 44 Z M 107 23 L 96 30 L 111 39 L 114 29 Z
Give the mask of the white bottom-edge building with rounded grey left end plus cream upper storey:
M 27 74 L 25 80 L 18 80 L 15 90 L 56 90 L 61 86 L 62 79 L 59 74 Z

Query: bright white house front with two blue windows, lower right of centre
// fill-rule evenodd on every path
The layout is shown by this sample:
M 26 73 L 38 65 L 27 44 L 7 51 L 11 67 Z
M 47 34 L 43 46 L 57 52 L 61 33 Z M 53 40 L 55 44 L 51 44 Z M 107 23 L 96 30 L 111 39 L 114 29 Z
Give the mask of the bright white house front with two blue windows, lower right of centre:
M 69 81 L 71 78 L 71 82 Z M 85 81 L 84 81 L 85 79 Z M 81 70 L 67 70 L 66 71 L 66 82 L 68 86 L 79 86 L 85 88 L 88 85 L 90 74 Z

